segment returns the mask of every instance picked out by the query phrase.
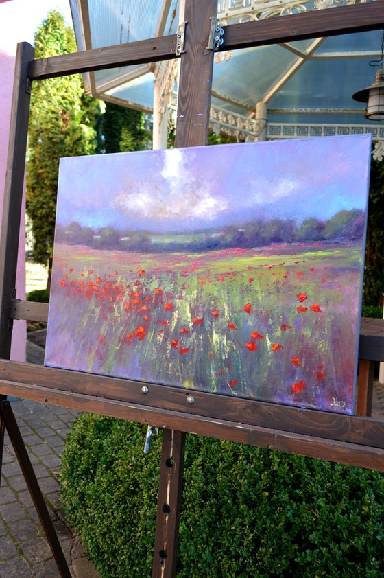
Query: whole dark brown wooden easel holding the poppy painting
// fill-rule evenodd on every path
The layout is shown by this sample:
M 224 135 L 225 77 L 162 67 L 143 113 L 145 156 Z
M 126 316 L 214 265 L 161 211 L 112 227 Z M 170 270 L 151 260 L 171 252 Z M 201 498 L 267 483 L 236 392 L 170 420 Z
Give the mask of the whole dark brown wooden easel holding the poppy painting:
M 16 55 L 0 246 L 0 391 L 3 394 L 0 464 L 3 432 L 7 428 L 62 577 L 70 576 L 69 569 L 5 394 L 164 428 L 153 578 L 171 578 L 176 573 L 185 432 L 384 470 L 384 424 L 368 417 L 222 399 L 225 396 L 204 392 L 195 392 L 196 402 L 189 407 L 184 390 L 157 384 L 151 385 L 151 395 L 144 400 L 140 382 L 8 361 L 13 320 L 47 320 L 46 305 L 19 301 L 14 295 L 31 82 L 75 72 L 180 58 L 176 146 L 204 145 L 213 71 L 213 47 L 207 46 L 216 10 L 216 0 L 186 0 L 184 21 L 187 25 L 182 51 L 178 47 L 180 39 L 173 34 L 41 60 L 34 60 L 32 47 L 23 43 Z M 383 26 L 384 3 L 378 0 L 337 10 L 225 26 L 224 44 L 218 50 L 379 30 Z M 358 411 L 361 415 L 370 415 L 372 363 L 376 359 L 384 360 L 383 336 L 376 336 L 376 345 L 372 347 L 369 333 L 368 330 L 362 334 L 360 340 Z

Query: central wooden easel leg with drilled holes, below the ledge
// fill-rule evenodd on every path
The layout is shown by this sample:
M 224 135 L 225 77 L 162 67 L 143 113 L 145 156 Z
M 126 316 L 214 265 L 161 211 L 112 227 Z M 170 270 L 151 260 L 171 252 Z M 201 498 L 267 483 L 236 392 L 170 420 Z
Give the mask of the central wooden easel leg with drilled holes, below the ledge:
M 152 578 L 176 573 L 185 434 L 163 430 Z

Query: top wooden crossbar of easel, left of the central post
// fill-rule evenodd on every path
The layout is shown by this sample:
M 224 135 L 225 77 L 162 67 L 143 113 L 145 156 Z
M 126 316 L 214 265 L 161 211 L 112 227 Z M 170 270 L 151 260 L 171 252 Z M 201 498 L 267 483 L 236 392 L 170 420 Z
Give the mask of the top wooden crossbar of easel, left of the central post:
M 38 58 L 29 65 L 30 80 L 43 80 L 93 70 L 139 65 L 176 58 L 176 34 L 84 52 Z

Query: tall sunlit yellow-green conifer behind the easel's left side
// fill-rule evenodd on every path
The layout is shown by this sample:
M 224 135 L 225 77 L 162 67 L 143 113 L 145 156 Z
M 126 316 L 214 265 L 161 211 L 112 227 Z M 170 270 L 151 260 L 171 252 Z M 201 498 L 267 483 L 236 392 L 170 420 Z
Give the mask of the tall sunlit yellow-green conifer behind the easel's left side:
M 76 51 L 75 37 L 59 12 L 49 12 L 35 34 L 35 58 Z M 91 154 L 99 102 L 87 97 L 80 75 L 34 83 L 27 151 L 27 212 L 34 234 L 33 257 L 50 264 L 60 157 Z

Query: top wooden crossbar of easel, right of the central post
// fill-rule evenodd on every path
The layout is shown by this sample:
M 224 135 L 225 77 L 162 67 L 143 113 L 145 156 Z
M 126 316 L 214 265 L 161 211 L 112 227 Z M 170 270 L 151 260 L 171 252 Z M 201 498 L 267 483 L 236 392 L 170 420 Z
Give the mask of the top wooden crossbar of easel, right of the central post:
M 384 2 L 377 0 L 224 26 L 224 44 L 219 51 L 380 30 L 383 26 Z

